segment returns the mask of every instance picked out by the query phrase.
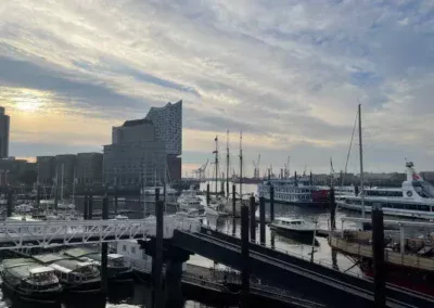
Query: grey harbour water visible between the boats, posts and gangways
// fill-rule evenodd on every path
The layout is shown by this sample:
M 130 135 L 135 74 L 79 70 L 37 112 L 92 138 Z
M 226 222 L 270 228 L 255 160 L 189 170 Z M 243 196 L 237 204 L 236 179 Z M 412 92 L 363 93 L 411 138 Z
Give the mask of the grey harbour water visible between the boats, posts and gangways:
M 215 188 L 215 182 L 210 182 L 210 189 Z M 220 188 L 220 183 L 217 185 Z M 230 188 L 232 184 L 230 184 Z M 239 191 L 239 184 L 237 184 L 237 191 Z M 243 193 L 256 194 L 256 184 L 244 184 Z M 206 183 L 201 184 L 201 190 L 206 190 Z M 203 196 L 205 198 L 205 196 Z M 93 210 L 98 213 L 101 209 L 101 198 L 94 197 Z M 125 202 L 122 200 L 118 203 L 119 213 L 125 213 L 129 218 L 142 218 L 143 209 L 146 208 L 148 211 L 152 213 L 154 209 L 154 201 L 152 197 L 143 202 L 139 196 L 127 197 Z M 82 211 L 84 198 L 77 197 L 76 209 Z M 113 211 L 113 203 L 110 203 L 110 210 Z M 167 205 L 166 213 L 175 213 L 177 210 L 176 206 Z M 269 214 L 269 204 L 266 204 L 266 215 Z M 350 211 L 337 211 L 336 213 L 336 227 L 341 228 L 341 218 L 346 216 L 359 217 L 358 213 Z M 288 217 L 288 218 L 303 218 L 306 221 L 317 222 L 318 229 L 327 230 L 329 229 L 330 214 L 327 208 L 320 207 L 308 207 L 308 206 L 294 206 L 285 204 L 275 204 L 275 216 L 276 217 Z M 94 217 L 94 219 L 98 219 Z M 241 226 L 240 219 L 233 219 L 231 217 L 225 219 L 216 219 L 207 217 L 203 221 L 204 224 L 212 229 L 217 229 L 221 232 L 229 234 L 240 234 Z M 357 229 L 358 226 L 355 223 L 346 223 L 346 228 Z M 259 228 L 256 228 L 257 234 L 256 239 L 259 239 Z M 350 271 L 353 274 L 361 275 L 357 266 L 354 266 L 354 260 L 349 259 L 345 255 L 332 252 L 327 239 L 317 236 L 315 242 L 309 240 L 307 242 L 299 242 L 297 240 L 275 234 L 268 226 L 266 227 L 266 242 L 267 246 L 273 246 L 276 249 L 284 251 L 288 254 L 296 255 L 301 258 L 320 262 L 321 265 L 333 267 L 341 271 Z M 205 268 L 225 267 L 224 265 L 215 264 L 213 260 L 205 259 L 200 256 L 192 256 L 189 262 L 202 266 Z M 84 307 L 110 307 L 110 308 L 129 308 L 129 307 L 151 307 L 151 296 L 152 291 L 146 284 L 135 284 L 128 287 L 114 287 L 110 292 L 107 299 L 105 298 L 91 298 L 87 300 L 78 301 L 64 301 L 62 307 L 68 308 L 84 308 Z M 0 300 L 0 308 L 2 307 L 33 307 L 29 304 L 12 301 L 8 296 L 2 295 Z M 201 304 L 194 300 L 186 298 L 184 307 L 217 307 L 210 306 L 209 304 Z

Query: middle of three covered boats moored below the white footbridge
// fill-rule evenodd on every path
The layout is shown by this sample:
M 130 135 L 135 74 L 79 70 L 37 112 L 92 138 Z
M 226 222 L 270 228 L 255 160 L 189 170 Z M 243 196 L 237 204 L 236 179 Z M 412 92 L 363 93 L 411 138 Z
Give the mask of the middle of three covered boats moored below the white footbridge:
M 33 256 L 38 262 L 54 269 L 63 290 L 69 293 L 101 292 L 101 277 L 93 262 L 82 262 L 61 254 Z

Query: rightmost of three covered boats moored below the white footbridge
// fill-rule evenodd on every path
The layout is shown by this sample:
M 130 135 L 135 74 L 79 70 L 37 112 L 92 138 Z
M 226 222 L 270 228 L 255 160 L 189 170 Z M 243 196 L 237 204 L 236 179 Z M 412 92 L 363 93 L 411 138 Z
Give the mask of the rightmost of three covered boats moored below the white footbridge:
M 63 254 L 82 262 L 94 264 L 101 270 L 101 254 L 92 248 L 71 248 Z M 126 264 L 123 255 L 107 255 L 107 277 L 113 282 L 132 282 L 131 267 Z

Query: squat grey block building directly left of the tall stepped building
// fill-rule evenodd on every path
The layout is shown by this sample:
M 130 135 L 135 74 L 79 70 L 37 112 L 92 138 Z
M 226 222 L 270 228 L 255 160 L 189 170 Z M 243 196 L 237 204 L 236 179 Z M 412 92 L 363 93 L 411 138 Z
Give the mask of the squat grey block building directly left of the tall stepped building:
M 76 157 L 76 184 L 101 184 L 102 162 L 102 153 L 78 153 Z

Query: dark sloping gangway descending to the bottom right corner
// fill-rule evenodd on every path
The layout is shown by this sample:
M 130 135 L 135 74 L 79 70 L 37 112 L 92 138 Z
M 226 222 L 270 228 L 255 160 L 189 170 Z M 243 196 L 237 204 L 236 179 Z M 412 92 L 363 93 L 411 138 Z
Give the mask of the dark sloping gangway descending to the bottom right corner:
M 171 244 L 191 253 L 243 269 L 241 239 L 206 227 L 200 232 L 176 230 Z M 373 281 L 350 275 L 331 267 L 250 243 L 251 273 L 284 288 L 315 294 L 332 307 L 373 307 Z M 434 298 L 387 284 L 387 307 L 434 307 Z

